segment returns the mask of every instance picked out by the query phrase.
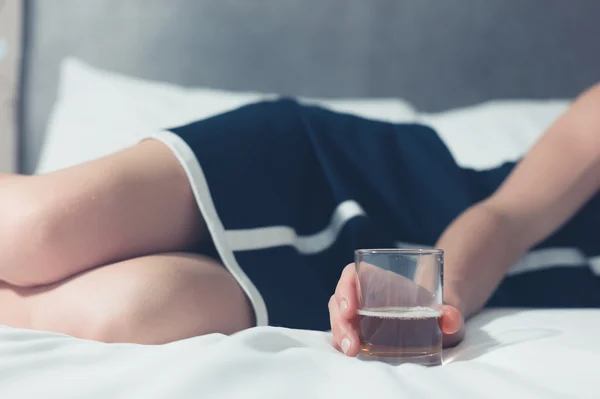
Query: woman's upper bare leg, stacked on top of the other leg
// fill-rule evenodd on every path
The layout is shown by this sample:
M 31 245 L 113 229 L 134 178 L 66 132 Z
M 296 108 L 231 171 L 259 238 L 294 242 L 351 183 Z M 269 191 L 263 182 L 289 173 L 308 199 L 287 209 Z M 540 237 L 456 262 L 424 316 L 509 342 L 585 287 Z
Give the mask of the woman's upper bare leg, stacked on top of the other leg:
M 188 180 L 155 140 L 41 176 L 0 179 L 0 280 L 36 286 L 207 237 Z

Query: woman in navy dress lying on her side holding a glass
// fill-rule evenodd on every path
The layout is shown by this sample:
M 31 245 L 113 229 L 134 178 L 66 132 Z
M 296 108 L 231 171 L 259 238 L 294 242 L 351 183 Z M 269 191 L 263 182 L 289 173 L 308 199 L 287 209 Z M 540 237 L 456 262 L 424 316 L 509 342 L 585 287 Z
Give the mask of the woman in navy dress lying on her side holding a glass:
M 446 252 L 451 345 L 486 303 L 600 306 L 585 267 L 498 288 L 532 247 L 599 255 L 599 188 L 600 86 L 518 165 L 488 171 L 457 166 L 425 126 L 253 104 L 86 164 L 1 177 L 0 324 L 139 343 L 331 327 L 355 355 L 344 266 L 354 249 L 408 242 Z

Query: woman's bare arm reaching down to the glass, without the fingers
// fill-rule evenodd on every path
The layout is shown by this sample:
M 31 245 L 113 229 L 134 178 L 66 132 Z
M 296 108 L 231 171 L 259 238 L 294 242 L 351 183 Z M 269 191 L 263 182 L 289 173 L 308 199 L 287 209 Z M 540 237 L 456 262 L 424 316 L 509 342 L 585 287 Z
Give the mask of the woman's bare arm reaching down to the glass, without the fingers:
M 508 268 L 600 189 L 600 84 L 583 93 L 487 200 L 444 232 L 448 303 L 469 316 Z

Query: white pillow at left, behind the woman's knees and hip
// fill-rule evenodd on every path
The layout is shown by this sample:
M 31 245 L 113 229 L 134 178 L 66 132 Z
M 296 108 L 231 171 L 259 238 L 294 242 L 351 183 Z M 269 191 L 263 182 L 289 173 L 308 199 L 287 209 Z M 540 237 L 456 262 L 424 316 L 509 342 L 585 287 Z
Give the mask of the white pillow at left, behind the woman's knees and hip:
M 273 97 L 131 78 L 67 58 L 61 65 L 58 99 L 36 173 L 99 158 L 135 144 L 149 133 Z M 389 122 L 416 119 L 413 107 L 399 99 L 300 100 Z

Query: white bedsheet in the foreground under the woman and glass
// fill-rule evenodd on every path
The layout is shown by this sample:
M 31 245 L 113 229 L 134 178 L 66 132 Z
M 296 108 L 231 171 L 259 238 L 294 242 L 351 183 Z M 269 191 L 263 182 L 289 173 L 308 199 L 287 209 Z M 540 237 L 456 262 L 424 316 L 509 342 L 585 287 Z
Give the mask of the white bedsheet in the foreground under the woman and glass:
M 598 398 L 599 331 L 600 310 L 490 310 L 444 366 L 424 368 L 271 327 L 161 346 L 0 327 L 0 398 Z

